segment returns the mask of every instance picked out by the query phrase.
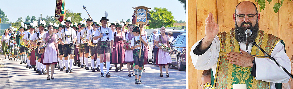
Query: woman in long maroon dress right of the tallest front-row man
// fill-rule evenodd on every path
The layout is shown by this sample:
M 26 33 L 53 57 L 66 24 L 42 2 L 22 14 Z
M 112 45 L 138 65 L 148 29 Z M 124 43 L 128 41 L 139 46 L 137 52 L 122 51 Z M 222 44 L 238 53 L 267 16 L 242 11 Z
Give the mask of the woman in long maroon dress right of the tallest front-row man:
M 112 52 L 112 63 L 115 64 L 115 71 L 118 71 L 117 65 L 120 64 L 120 71 L 122 70 L 123 62 L 124 62 L 124 53 L 125 49 L 123 49 L 123 45 L 126 44 L 125 36 L 121 32 L 122 26 L 118 24 L 116 26 L 117 32 L 114 33 L 114 44 L 113 47 L 116 49 L 113 49 Z

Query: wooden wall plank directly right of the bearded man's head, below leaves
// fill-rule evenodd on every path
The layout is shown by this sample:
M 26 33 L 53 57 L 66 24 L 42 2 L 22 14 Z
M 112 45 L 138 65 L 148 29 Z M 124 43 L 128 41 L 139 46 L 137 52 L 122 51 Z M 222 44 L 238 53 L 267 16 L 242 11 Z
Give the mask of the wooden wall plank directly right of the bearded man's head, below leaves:
M 270 4 L 266 1 L 265 10 L 258 10 L 261 15 L 259 29 L 268 34 L 273 34 L 274 36 L 279 37 L 279 12 L 275 13 L 273 9 L 274 3 L 276 2 L 278 2 L 278 0 L 273 0 Z M 258 8 L 260 8 L 260 6 L 258 6 Z

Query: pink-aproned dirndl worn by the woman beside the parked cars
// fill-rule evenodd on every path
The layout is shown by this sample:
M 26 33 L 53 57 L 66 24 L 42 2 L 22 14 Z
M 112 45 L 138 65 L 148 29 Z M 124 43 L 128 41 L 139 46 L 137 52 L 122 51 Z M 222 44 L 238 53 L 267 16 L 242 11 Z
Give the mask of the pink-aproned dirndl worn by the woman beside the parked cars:
M 157 40 L 159 41 L 159 43 L 162 43 L 162 45 L 167 46 L 167 44 L 169 44 L 169 43 L 167 43 L 167 42 L 169 42 L 167 35 L 165 35 L 164 37 L 162 35 L 160 35 L 160 36 L 161 36 L 161 39 L 163 42 L 161 42 L 161 40 L 159 39 L 159 36 L 158 36 Z M 169 63 L 172 63 L 170 53 L 165 52 L 162 49 L 158 49 L 156 65 L 164 66 L 164 65 L 168 65 Z

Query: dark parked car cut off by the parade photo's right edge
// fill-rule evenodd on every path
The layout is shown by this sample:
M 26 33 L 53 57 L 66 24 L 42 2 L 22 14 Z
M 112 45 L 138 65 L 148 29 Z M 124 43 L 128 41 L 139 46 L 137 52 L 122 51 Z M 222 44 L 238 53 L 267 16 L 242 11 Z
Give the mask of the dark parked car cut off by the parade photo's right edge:
M 180 34 L 171 42 L 171 60 L 172 65 L 177 65 L 180 71 L 185 70 L 186 61 L 186 34 Z

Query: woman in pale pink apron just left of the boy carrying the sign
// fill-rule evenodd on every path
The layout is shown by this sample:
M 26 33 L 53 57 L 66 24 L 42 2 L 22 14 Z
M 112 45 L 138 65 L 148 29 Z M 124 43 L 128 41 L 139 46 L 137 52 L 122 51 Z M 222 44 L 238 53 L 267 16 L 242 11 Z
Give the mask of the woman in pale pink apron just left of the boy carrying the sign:
M 130 31 L 129 33 L 126 34 L 126 40 L 128 40 L 128 42 L 131 42 L 132 38 L 134 38 L 135 36 L 133 36 L 133 26 L 130 25 L 128 26 L 128 30 Z M 129 43 L 127 43 L 127 45 L 130 45 Z M 131 77 L 131 72 L 130 72 L 130 66 L 132 66 L 133 64 L 133 50 L 125 50 L 125 57 L 124 57 L 124 62 L 127 64 L 127 68 L 128 68 L 128 77 Z M 134 74 L 134 70 L 132 71 L 132 75 L 135 76 Z

